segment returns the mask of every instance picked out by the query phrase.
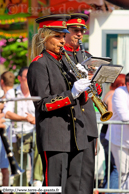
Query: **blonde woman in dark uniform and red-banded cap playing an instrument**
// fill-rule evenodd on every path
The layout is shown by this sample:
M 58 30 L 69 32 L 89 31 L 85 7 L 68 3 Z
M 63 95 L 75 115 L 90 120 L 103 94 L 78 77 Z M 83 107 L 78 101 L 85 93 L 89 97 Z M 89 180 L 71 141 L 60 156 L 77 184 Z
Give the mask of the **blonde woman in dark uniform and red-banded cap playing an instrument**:
M 27 79 L 31 95 L 42 98 L 35 102 L 35 108 L 44 186 L 62 186 L 62 194 L 78 194 L 83 153 L 88 144 L 81 107 L 87 101 L 85 91 L 90 81 L 75 81 L 68 74 L 68 63 L 62 61 L 68 19 L 67 14 L 36 19 L 39 30 L 32 40 L 34 59 Z

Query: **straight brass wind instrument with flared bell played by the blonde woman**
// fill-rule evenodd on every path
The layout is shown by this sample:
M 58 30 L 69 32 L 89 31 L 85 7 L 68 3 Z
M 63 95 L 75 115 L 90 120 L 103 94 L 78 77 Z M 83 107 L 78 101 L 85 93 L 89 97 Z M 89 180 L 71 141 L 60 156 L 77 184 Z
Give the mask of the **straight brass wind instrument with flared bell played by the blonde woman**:
M 87 75 L 78 70 L 78 68 L 76 67 L 76 64 L 70 59 L 65 49 L 62 47 L 61 50 L 65 54 L 66 60 L 72 72 L 74 73 L 76 80 L 79 80 L 81 78 L 86 78 Z M 94 90 L 92 85 L 89 86 L 89 90 L 87 90 L 87 92 L 88 92 L 89 98 L 92 99 L 92 101 L 94 102 L 95 106 L 98 108 L 101 114 L 100 120 L 108 121 L 112 117 L 113 113 L 111 111 L 107 111 L 106 104 L 96 95 L 96 91 Z

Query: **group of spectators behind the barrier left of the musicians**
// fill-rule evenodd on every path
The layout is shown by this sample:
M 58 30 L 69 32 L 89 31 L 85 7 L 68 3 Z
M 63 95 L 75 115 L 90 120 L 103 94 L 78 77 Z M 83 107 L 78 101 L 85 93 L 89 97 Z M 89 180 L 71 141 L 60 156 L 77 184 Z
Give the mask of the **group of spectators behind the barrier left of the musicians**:
M 1 88 L 4 91 L 4 96 L 2 98 L 29 98 L 30 93 L 27 84 L 27 72 L 28 67 L 23 67 L 18 73 L 18 80 L 20 84 L 14 87 L 15 76 L 10 71 L 5 71 L 1 75 Z M 7 137 L 10 140 L 12 138 L 13 154 L 20 166 L 21 163 L 21 153 L 18 152 L 17 135 L 20 134 L 34 134 L 35 131 L 35 108 L 32 100 L 6 102 L 5 104 L 0 104 L 1 117 L 4 116 L 6 119 L 13 120 L 14 122 L 5 122 L 1 120 L 1 126 L 4 127 L 7 133 Z M 5 126 L 4 126 L 5 125 Z M 12 130 L 11 130 L 12 127 Z M 12 133 L 11 133 L 12 132 Z M 35 133 L 36 136 L 36 133 Z M 35 139 L 35 137 L 33 138 Z M 27 180 L 27 165 L 28 165 L 28 154 L 31 161 L 31 179 L 28 183 Z M 33 186 L 42 186 L 43 175 L 42 175 L 42 163 L 40 155 L 37 151 L 36 141 L 34 141 L 34 146 L 28 152 L 23 152 L 23 169 L 25 172 L 22 175 L 22 186 L 28 186 L 33 184 Z M 9 184 L 9 162 L 7 159 L 7 154 L 5 152 L 2 141 L 0 141 L 0 168 L 3 175 L 3 186 L 8 186 Z M 20 175 L 15 176 L 13 180 L 14 186 L 20 186 Z

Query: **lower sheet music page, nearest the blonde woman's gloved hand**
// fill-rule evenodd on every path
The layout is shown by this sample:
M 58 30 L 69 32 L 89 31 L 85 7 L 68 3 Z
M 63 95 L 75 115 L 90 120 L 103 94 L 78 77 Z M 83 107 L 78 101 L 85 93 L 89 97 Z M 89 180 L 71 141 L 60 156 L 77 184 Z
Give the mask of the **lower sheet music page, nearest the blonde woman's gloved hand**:
M 92 77 L 91 82 L 113 83 L 122 69 L 121 65 L 101 65 Z

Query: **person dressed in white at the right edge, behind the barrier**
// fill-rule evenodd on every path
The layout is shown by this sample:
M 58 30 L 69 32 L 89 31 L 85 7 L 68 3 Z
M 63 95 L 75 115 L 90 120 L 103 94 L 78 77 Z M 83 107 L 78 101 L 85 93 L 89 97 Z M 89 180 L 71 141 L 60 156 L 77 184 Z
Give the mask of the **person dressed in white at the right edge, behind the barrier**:
M 112 98 L 113 116 L 111 120 L 129 121 L 129 73 L 125 77 L 126 86 L 117 88 Z M 109 140 L 109 128 L 106 134 Z M 121 188 L 129 189 L 129 125 L 123 125 L 122 156 L 121 125 L 111 124 L 111 151 L 118 173 L 121 173 Z M 121 160 L 120 160 L 121 159 Z M 121 162 L 121 172 L 120 172 Z

